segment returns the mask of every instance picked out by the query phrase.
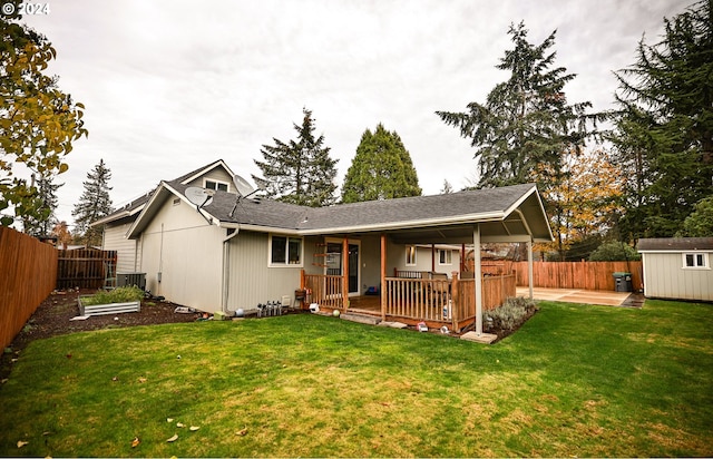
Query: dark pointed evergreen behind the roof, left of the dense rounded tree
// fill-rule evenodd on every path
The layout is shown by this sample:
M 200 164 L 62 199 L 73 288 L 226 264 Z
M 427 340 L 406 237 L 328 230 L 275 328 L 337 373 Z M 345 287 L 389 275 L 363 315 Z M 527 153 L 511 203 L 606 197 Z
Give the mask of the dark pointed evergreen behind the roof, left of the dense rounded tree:
M 255 164 L 267 182 L 267 197 L 312 207 L 328 206 L 335 201 L 338 160 L 332 159 L 330 148 L 323 146 L 324 135 L 314 137 L 312 111 L 306 108 L 302 111 L 302 126 L 293 124 L 296 141 L 273 138 L 275 145 L 263 145 L 264 160 Z

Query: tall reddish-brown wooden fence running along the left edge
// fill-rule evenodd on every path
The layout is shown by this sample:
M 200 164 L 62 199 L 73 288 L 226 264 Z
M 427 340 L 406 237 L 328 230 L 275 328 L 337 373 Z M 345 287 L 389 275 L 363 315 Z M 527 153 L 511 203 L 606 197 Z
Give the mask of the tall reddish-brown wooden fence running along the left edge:
M 57 250 L 0 226 L 0 348 L 22 330 L 57 282 Z

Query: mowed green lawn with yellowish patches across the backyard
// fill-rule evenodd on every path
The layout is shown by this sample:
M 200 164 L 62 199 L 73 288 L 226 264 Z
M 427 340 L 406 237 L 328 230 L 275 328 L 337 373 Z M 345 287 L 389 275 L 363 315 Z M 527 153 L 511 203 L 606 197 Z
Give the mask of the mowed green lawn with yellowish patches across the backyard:
M 306 314 L 37 341 L 0 455 L 713 456 L 713 306 L 540 307 L 490 346 Z

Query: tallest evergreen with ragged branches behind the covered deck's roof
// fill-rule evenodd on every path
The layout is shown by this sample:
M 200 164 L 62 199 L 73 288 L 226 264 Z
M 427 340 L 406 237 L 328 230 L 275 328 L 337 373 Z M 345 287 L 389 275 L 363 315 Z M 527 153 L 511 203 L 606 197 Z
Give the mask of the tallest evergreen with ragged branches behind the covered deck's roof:
M 437 111 L 449 126 L 471 139 L 480 170 L 479 187 L 527 183 L 538 165 L 554 176 L 535 176 L 545 187 L 559 179 L 560 156 L 578 150 L 585 138 L 585 109 L 589 102 L 568 105 L 564 87 L 575 78 L 554 67 L 554 31 L 543 43 L 527 41 L 524 22 L 510 26 L 515 48 L 496 68 L 510 78 L 496 85 L 485 104 L 470 102 L 466 113 Z

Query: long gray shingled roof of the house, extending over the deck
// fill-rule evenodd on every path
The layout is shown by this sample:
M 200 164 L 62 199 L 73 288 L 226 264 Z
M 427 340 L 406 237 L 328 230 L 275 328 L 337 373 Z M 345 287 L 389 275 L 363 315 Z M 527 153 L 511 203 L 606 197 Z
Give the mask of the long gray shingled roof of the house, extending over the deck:
M 141 214 L 143 222 L 137 222 L 129 236 L 140 233 L 169 195 L 188 202 L 187 188 L 178 179 L 162 183 L 152 199 L 156 204 L 149 202 L 153 208 Z M 235 194 L 218 191 L 202 211 L 219 226 L 299 235 L 393 231 L 407 238 L 455 242 L 472 238 L 473 225 L 485 224 L 481 228 L 486 236 L 529 234 L 536 241 L 551 241 L 547 215 L 534 184 L 318 208 L 266 198 L 237 199 Z

